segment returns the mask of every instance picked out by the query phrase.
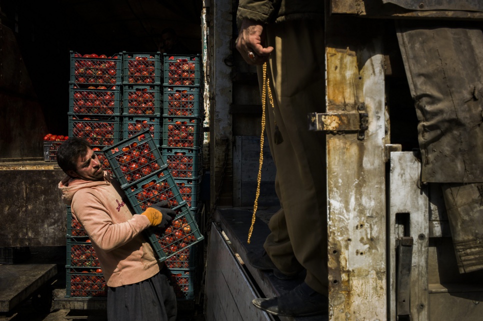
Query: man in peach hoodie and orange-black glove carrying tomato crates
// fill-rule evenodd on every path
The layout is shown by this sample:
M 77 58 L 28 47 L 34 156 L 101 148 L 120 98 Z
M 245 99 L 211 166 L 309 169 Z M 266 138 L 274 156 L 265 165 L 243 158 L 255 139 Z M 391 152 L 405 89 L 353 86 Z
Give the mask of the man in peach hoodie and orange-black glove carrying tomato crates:
M 174 321 L 176 297 L 169 279 L 141 232 L 165 227 L 175 216 L 167 202 L 133 215 L 118 181 L 102 166 L 83 138 L 64 141 L 57 163 L 67 174 L 62 199 L 87 232 L 107 284 L 109 320 Z

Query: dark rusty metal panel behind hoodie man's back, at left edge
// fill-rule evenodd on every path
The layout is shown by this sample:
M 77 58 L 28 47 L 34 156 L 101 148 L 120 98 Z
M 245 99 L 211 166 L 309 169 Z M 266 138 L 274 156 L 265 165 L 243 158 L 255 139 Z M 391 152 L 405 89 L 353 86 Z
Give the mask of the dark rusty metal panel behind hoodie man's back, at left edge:
M 0 170 L 0 246 L 65 245 L 62 170 Z

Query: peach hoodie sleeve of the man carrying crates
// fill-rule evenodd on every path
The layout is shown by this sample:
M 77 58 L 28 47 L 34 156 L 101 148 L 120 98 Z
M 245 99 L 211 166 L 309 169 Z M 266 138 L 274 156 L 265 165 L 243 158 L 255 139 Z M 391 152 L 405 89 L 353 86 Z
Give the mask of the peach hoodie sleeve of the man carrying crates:
M 99 198 L 88 188 L 75 193 L 71 209 L 90 240 L 106 252 L 124 245 L 150 226 L 144 215 L 132 215 L 124 222 L 115 223 Z

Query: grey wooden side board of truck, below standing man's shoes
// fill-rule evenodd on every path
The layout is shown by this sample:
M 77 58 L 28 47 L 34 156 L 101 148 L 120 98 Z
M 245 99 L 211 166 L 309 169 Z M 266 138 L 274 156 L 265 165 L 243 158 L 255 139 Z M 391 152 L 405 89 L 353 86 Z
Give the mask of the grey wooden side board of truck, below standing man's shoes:
M 233 321 L 271 319 L 251 303 L 259 294 L 244 275 L 238 260 L 214 224 L 209 233 L 206 270 L 206 309 L 214 314 L 216 320 L 223 319 L 220 315 L 225 317 L 224 320 Z M 222 308 L 222 313 L 210 306 L 216 303 Z

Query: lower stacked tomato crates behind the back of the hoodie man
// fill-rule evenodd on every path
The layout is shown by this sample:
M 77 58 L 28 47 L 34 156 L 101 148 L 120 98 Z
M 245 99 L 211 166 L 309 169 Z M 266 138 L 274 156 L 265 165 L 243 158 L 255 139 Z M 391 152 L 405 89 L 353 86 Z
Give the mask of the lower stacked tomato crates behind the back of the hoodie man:
M 67 206 L 65 297 L 105 297 L 106 284 L 87 233 Z

